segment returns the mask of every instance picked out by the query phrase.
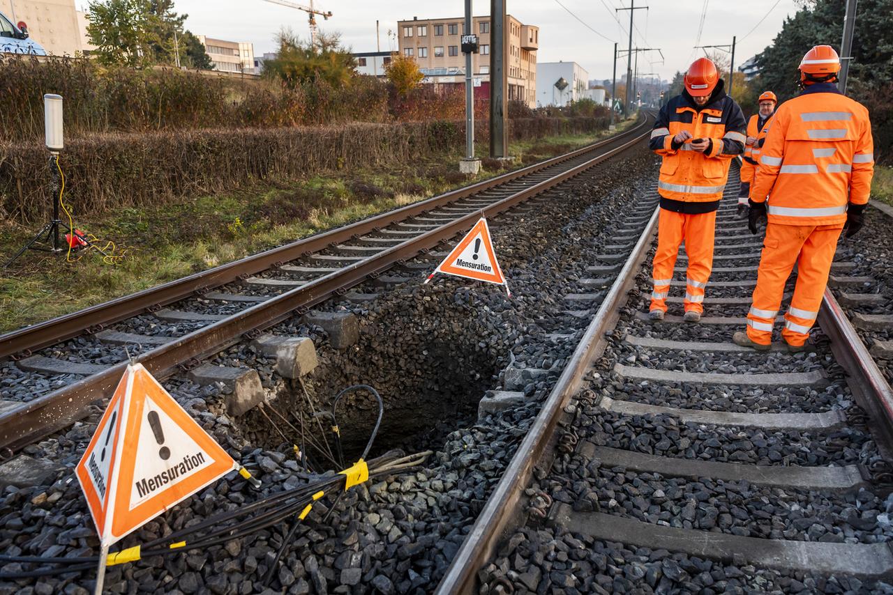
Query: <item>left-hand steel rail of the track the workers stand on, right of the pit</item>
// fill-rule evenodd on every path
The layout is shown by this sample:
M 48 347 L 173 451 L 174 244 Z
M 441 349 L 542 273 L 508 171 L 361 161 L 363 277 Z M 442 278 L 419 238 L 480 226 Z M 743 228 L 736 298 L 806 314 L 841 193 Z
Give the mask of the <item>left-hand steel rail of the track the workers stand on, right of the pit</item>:
M 438 584 L 437 595 L 476 592 L 475 582 L 483 564 L 493 557 L 499 541 L 522 523 L 522 495 L 530 484 L 535 467 L 547 467 L 544 462 L 549 456 L 550 445 L 555 440 L 564 408 L 574 393 L 580 390 L 583 376 L 590 364 L 605 352 L 605 333 L 613 328 L 620 318 L 620 309 L 626 302 L 630 287 L 635 282 L 636 272 L 645 260 L 652 238 L 657 230 L 655 208 L 648 225 L 639 236 L 605 300 L 598 308 L 595 318 L 589 323 L 586 333 L 577 344 L 571 359 L 558 377 L 552 392 L 543 403 L 536 420 L 524 436 L 496 489 L 481 510 L 471 533 L 456 552 L 447 574 Z

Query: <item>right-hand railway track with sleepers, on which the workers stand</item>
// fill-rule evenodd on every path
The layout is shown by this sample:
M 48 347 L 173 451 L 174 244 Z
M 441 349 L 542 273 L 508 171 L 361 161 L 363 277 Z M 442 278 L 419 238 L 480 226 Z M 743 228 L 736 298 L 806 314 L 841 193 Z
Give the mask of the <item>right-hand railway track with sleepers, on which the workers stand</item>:
M 830 290 L 807 352 L 731 342 L 761 248 L 736 176 L 700 324 L 684 252 L 647 320 L 656 211 L 625 262 L 593 255 L 613 285 L 438 593 L 893 590 L 893 393 Z

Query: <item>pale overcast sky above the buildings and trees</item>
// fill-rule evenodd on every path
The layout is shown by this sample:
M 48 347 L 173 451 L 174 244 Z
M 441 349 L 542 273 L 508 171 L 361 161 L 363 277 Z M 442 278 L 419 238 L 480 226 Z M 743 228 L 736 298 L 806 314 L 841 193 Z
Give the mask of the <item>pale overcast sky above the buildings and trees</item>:
M 305 0 L 298 1 L 307 4 Z M 613 42 L 626 47 L 626 28 L 630 22 L 629 11 L 616 13 L 623 23 L 621 27 L 613 18 L 613 9 L 630 6 L 630 0 L 560 0 L 561 4 L 557 0 L 507 2 L 508 12 L 515 18 L 539 27 L 537 62 L 578 62 L 588 70 L 589 79 L 611 78 Z M 565 11 L 562 4 L 585 25 Z M 648 5 L 649 9 L 636 11 L 633 45 L 662 48 L 665 58 L 662 63 L 656 53 L 647 58 L 644 54 L 639 56 L 639 72 L 657 72 L 663 79 L 672 78 L 676 70 L 688 66 L 697 55 L 692 49 L 694 45 L 730 44 L 733 35 L 739 40 L 735 62 L 740 64 L 762 51 L 781 29 L 782 22 L 797 12 L 794 0 L 637 0 L 636 4 Z M 696 44 L 705 5 L 704 27 Z M 175 6 L 178 12 L 188 13 L 186 27 L 196 35 L 250 41 L 255 45 L 255 54 L 274 51 L 276 33 L 283 26 L 291 27 L 301 36 L 307 35 L 305 12 L 264 0 L 176 0 Z M 333 12 L 329 21 L 318 21 L 321 29 L 340 32 L 344 43 L 355 52 L 376 49 L 376 19 L 380 21 L 381 49 L 387 50 L 388 29 L 396 30 L 396 21 L 413 16 L 420 19 L 458 17 L 464 11 L 461 0 L 315 0 L 315 6 Z M 476 15 L 484 15 L 489 11 L 489 2 L 477 0 L 473 7 Z M 763 23 L 752 31 L 764 17 Z M 618 78 L 625 68 L 625 61 L 618 62 Z

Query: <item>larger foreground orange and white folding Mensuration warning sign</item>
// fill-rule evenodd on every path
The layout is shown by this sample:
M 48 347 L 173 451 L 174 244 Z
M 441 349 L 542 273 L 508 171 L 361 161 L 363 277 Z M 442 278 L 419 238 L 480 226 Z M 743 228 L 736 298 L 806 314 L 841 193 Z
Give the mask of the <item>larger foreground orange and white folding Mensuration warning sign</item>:
M 238 464 L 142 364 L 130 365 L 75 473 L 103 545 Z

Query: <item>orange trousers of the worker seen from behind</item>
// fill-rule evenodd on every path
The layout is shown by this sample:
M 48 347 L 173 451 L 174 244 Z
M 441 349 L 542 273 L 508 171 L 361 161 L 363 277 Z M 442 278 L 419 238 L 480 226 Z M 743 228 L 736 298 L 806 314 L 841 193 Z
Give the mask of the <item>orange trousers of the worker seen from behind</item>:
M 781 336 L 799 346 L 819 315 L 828 285 L 831 260 L 837 250 L 842 224 L 782 225 L 769 222 L 760 269 L 756 274 L 753 305 L 747 312 L 747 336 L 754 343 L 772 343 L 772 323 L 781 308 L 784 286 L 797 263 L 797 285 L 785 314 Z

